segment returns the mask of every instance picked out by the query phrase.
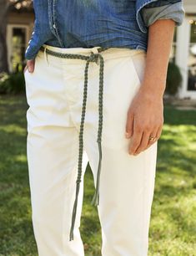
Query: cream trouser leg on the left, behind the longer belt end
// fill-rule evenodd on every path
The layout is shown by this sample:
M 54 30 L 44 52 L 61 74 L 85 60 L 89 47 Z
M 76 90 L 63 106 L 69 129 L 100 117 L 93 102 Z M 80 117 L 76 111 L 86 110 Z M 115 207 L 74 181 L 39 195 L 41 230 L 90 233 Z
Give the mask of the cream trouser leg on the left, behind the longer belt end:
M 29 109 L 28 171 L 33 231 L 39 256 L 83 256 L 79 233 L 83 179 L 74 240 L 69 231 L 78 169 L 78 130 L 69 112 L 68 84 L 61 59 L 38 53 L 33 74 L 25 72 Z M 87 165 L 83 156 L 83 172 Z

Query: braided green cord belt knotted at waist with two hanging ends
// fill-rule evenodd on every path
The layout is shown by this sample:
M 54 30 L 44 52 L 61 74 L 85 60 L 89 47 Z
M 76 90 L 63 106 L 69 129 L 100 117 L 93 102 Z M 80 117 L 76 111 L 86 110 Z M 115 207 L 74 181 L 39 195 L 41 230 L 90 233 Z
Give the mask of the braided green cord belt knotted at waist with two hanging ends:
M 98 52 L 102 52 L 108 48 L 99 48 Z M 93 52 L 90 56 L 86 56 L 83 54 L 62 54 L 58 52 L 54 52 L 50 49 L 41 47 L 41 50 L 46 54 L 53 55 L 58 58 L 67 58 L 67 59 L 83 59 L 86 60 L 86 66 L 84 69 L 84 86 L 83 86 L 83 107 L 82 107 L 82 115 L 81 115 L 81 123 L 80 123 L 80 131 L 79 131 L 79 152 L 78 152 L 78 177 L 76 181 L 76 197 L 75 202 L 73 204 L 73 214 L 72 214 L 72 225 L 70 229 L 70 237 L 69 241 L 73 240 L 73 228 L 76 218 L 76 210 L 78 204 L 78 192 L 79 185 L 81 182 L 82 176 L 82 162 L 83 162 L 83 125 L 86 111 L 86 103 L 87 103 L 87 93 L 88 93 L 88 66 L 90 62 L 95 62 L 98 64 L 98 59 L 100 59 L 100 67 L 99 67 L 99 92 L 98 92 L 98 152 L 99 152 L 99 161 L 98 161 L 98 173 L 97 173 L 97 181 L 96 181 L 96 189 L 93 196 L 93 200 L 91 204 L 98 205 L 99 202 L 99 179 L 101 172 L 101 160 L 102 160 L 102 147 L 101 147 L 101 138 L 102 138 L 102 130 L 103 130 L 103 68 L 104 61 L 103 56 L 101 54 L 94 54 Z

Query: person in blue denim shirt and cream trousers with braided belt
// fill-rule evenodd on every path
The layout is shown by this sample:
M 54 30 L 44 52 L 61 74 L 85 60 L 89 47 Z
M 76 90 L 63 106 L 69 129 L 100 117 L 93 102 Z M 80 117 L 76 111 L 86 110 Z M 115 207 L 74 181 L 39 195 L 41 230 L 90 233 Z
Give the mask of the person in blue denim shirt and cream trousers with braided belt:
M 146 256 L 168 57 L 183 3 L 33 6 L 24 76 L 38 254 L 84 255 L 79 226 L 89 161 L 102 255 Z

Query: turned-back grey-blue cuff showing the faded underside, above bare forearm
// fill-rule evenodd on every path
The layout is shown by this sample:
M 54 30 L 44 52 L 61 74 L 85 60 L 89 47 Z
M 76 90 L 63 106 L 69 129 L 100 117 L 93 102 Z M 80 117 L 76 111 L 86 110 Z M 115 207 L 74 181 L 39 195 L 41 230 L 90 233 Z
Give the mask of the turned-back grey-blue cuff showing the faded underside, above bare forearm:
M 183 3 L 178 2 L 153 8 L 144 7 L 141 10 L 141 15 L 146 27 L 158 19 L 173 19 L 175 26 L 180 26 L 183 23 L 185 11 L 183 9 Z

